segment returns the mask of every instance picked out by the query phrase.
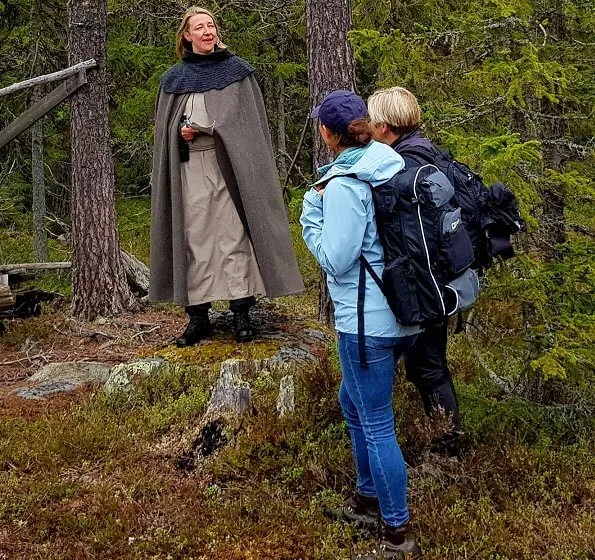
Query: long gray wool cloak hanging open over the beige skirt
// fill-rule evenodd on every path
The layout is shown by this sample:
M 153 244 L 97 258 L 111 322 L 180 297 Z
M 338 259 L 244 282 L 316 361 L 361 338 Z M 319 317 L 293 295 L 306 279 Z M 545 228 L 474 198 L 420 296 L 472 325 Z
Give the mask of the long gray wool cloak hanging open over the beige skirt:
M 149 299 L 179 305 L 188 304 L 179 152 L 188 95 L 159 92 L 151 179 Z M 252 241 L 267 297 L 303 291 L 256 79 L 250 74 L 224 89 L 208 90 L 205 105 L 215 123 L 217 161 Z

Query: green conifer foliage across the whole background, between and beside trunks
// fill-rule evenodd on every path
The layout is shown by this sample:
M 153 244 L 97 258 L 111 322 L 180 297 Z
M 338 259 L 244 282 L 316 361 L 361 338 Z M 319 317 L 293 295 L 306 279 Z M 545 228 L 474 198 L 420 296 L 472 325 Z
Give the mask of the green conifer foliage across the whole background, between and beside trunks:
M 256 68 L 278 161 L 289 168 L 308 114 L 303 0 L 202 3 L 223 40 Z M 0 0 L 0 87 L 66 66 L 65 2 L 38 2 L 46 32 L 32 32 L 34 0 Z M 595 12 L 590 0 L 353 0 L 358 91 L 411 89 L 438 144 L 516 193 L 529 232 L 519 259 L 494 267 L 477 306 L 483 350 L 495 366 L 540 387 L 593 380 L 595 358 Z M 110 119 L 117 188 L 147 195 L 158 77 L 175 62 L 187 4 L 109 2 Z M 281 101 L 283 101 L 281 103 Z M 29 94 L 0 105 L 5 125 Z M 68 108 L 46 120 L 48 203 L 67 200 Z M 281 141 L 285 139 L 285 145 Z M 290 186 L 309 181 L 306 134 Z M 282 151 L 284 153 L 282 153 Z M 283 167 L 280 164 L 280 168 Z M 27 225 L 28 138 L 0 154 L 0 220 Z M 66 205 L 67 207 L 67 205 Z M 506 318 L 515 320 L 507 322 Z M 490 345 L 498 340 L 499 346 Z M 496 369 L 498 369 L 496 367 Z M 534 396 L 548 397 L 545 390 Z M 539 395 L 537 395 L 539 393 Z M 540 396 L 541 395 L 541 396 Z M 549 397 L 558 399 L 559 392 Z

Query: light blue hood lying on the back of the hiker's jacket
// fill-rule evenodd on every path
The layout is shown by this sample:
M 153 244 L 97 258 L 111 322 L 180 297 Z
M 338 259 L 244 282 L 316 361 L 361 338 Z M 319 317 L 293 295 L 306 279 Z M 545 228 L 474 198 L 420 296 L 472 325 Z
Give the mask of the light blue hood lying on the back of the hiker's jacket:
M 381 142 L 370 142 L 361 148 L 347 148 L 335 161 L 318 169 L 322 177 L 314 183 L 326 183 L 334 177 L 356 177 L 372 186 L 386 183 L 403 169 L 403 158 L 390 146 Z

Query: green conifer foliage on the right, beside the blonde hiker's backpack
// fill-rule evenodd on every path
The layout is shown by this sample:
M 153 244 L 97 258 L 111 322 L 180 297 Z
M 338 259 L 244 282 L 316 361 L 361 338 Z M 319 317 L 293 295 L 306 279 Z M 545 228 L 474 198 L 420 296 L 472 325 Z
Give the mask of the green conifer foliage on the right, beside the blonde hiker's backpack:
M 595 51 L 589 2 L 408 6 L 359 0 L 354 10 L 362 90 L 412 90 L 428 135 L 486 182 L 507 183 L 529 223 L 518 243 L 522 257 L 491 271 L 476 313 L 492 333 L 511 309 L 518 315 L 493 348 L 499 354 L 494 362 L 509 351 L 516 355 L 511 374 L 539 388 L 534 398 L 561 398 L 552 379 L 566 380 L 567 387 L 592 382 Z

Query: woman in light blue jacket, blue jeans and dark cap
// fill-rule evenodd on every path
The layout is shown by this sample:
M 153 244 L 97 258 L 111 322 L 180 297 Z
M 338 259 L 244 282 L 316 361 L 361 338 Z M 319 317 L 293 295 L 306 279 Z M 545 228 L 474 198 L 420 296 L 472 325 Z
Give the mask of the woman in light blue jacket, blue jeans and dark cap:
M 304 196 L 300 221 L 335 305 L 343 373 L 339 401 L 357 470 L 353 499 L 333 513 L 369 525 L 380 517 L 385 557 L 417 558 L 419 547 L 407 534 L 407 471 L 395 435 L 392 388 L 396 362 L 419 328 L 397 323 L 358 260 L 363 255 L 382 277 L 370 188 L 385 183 L 404 163 L 390 146 L 371 141 L 366 104 L 353 92 L 332 92 L 311 116 L 319 119 L 319 132 L 336 159 L 319 169 L 322 177 Z M 359 317 L 358 300 L 360 305 L 363 300 Z

